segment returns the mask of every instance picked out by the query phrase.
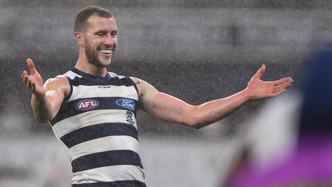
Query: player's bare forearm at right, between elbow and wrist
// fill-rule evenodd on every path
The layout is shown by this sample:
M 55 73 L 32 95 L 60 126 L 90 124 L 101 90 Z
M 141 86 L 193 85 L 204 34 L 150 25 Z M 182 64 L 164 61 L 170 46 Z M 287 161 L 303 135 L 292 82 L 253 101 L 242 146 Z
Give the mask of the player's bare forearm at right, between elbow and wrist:
M 229 114 L 251 101 L 247 90 L 235 93 L 227 98 L 210 101 L 193 107 L 189 126 L 201 128 L 226 118 Z

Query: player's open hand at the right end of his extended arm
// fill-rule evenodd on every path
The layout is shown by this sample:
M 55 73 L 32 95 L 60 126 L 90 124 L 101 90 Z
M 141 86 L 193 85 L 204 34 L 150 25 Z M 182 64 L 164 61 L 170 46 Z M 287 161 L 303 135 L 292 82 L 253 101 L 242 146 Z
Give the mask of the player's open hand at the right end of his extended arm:
M 277 81 L 262 81 L 260 78 L 262 78 L 265 70 L 266 66 L 262 65 L 248 83 L 247 91 L 250 93 L 252 100 L 278 96 L 283 91 L 286 91 L 286 88 L 294 82 L 290 77 Z

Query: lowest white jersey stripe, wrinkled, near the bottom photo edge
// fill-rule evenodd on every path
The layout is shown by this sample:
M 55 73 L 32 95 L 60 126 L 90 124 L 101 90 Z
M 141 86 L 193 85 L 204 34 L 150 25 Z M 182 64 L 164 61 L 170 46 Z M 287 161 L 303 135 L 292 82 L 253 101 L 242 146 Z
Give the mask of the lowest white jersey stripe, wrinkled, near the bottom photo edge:
M 144 178 L 144 170 L 138 166 L 118 165 L 76 172 L 73 174 L 72 184 L 117 180 L 139 180 L 144 182 Z

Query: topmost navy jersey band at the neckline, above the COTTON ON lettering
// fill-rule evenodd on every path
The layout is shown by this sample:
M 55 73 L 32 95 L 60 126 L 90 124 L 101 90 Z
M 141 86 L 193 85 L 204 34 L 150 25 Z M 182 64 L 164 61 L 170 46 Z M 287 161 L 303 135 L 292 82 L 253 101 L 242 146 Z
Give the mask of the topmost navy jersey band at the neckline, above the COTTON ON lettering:
M 73 86 L 85 85 L 85 86 L 133 86 L 133 81 L 130 77 L 124 77 L 122 79 L 118 77 L 111 77 L 108 80 L 101 79 L 100 81 L 96 81 L 93 79 L 88 79 L 85 77 L 75 77 L 73 80 L 70 80 L 70 83 Z

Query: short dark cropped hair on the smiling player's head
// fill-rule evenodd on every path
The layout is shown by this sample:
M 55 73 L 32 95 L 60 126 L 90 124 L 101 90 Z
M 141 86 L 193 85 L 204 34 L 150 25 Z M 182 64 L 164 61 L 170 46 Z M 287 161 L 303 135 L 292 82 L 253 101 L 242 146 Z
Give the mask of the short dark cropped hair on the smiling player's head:
M 83 32 L 87 28 L 87 22 L 86 20 L 92 16 L 92 15 L 98 15 L 100 17 L 105 17 L 105 18 L 112 18 L 112 14 L 97 6 L 89 6 L 77 13 L 75 21 L 74 21 L 74 32 Z

